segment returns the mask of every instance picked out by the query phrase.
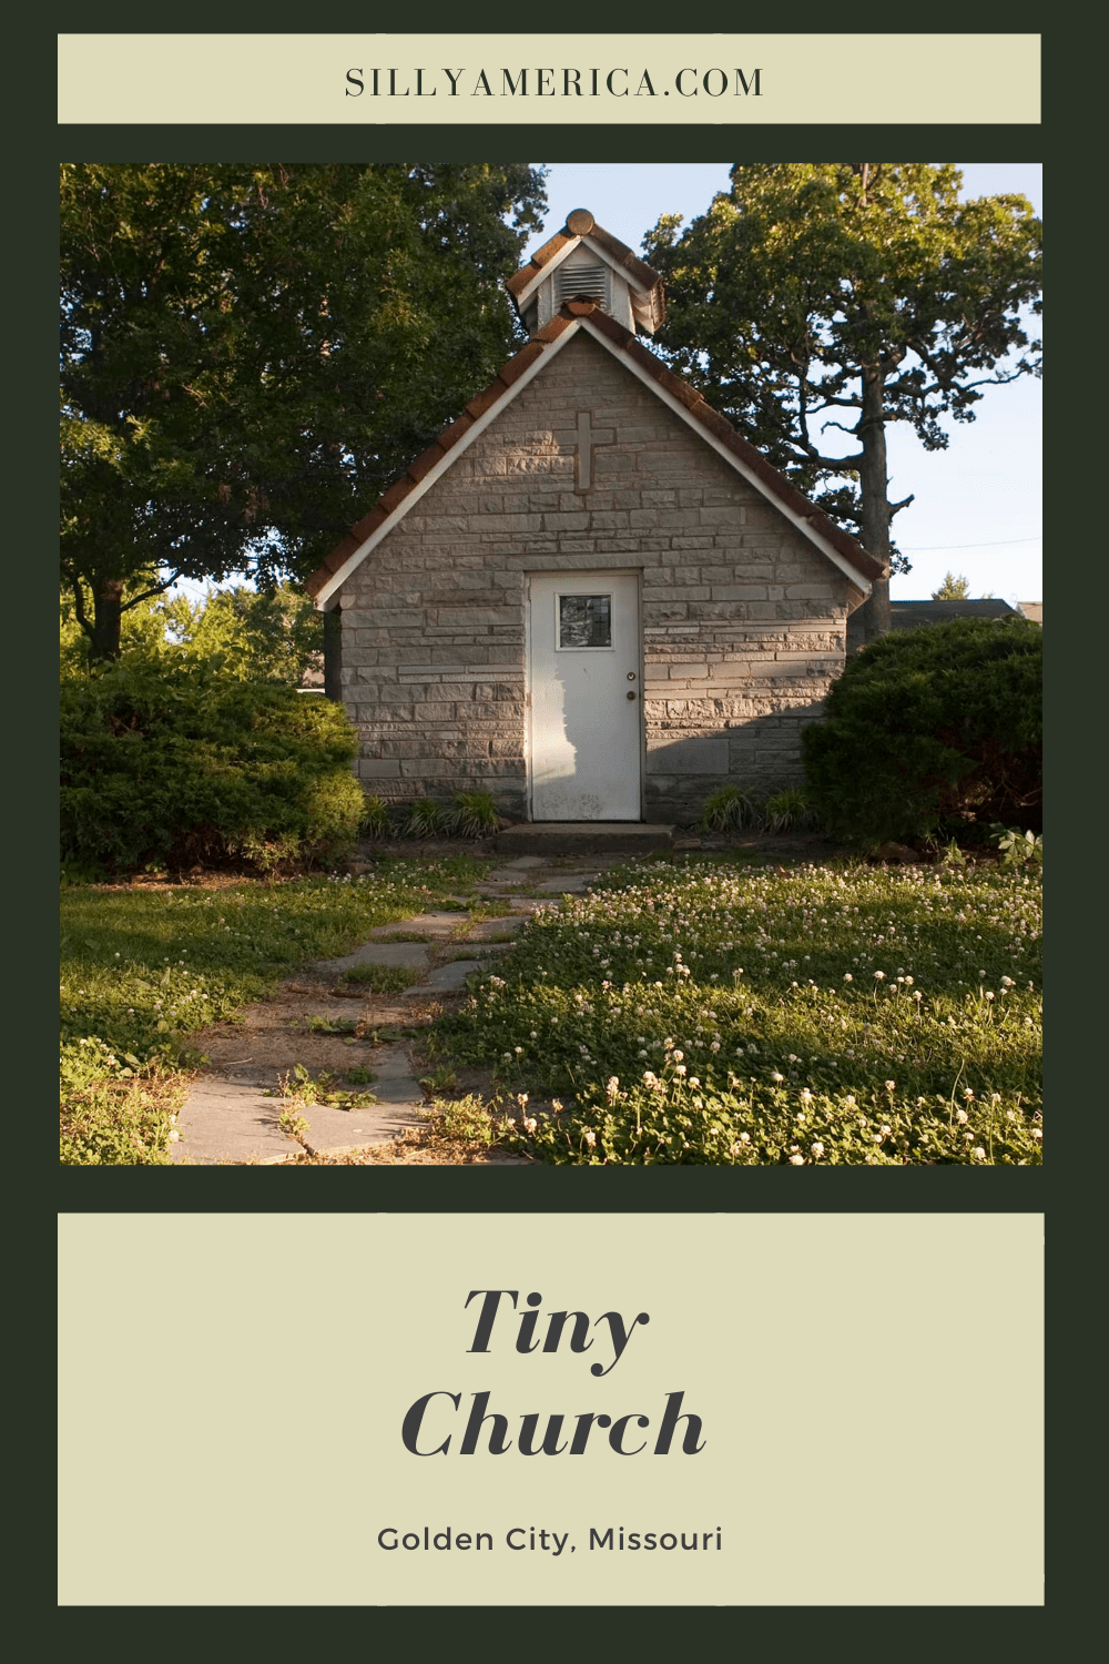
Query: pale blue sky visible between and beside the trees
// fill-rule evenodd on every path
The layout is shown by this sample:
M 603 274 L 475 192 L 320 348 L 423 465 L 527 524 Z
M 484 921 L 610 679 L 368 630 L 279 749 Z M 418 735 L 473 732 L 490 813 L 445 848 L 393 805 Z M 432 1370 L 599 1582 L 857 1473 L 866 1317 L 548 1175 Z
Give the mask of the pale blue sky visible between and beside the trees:
M 574 208 L 589 208 L 605 231 L 640 251 L 662 213 L 693 220 L 728 190 L 732 163 L 552 163 L 544 243 Z M 1042 215 L 1039 163 L 961 161 L 963 195 L 1019 191 Z M 1038 324 L 1039 319 L 1033 319 Z M 1031 333 L 1031 331 L 1029 331 Z M 1039 333 L 1036 329 L 1036 333 Z M 913 571 L 890 581 L 895 601 L 926 601 L 948 571 L 969 581 L 971 596 L 1042 599 L 1042 384 L 1023 376 L 986 388 L 974 423 L 948 423 L 946 451 L 924 451 L 904 423 L 886 428 L 890 499 L 914 501 L 893 534 Z

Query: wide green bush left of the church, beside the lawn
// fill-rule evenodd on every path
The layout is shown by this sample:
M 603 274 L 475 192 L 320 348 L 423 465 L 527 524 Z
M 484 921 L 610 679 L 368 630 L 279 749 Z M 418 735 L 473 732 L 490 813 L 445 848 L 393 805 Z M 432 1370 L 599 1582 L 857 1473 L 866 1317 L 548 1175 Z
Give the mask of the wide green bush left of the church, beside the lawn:
M 186 654 L 62 686 L 62 860 L 110 872 L 338 857 L 357 834 L 344 712 Z

